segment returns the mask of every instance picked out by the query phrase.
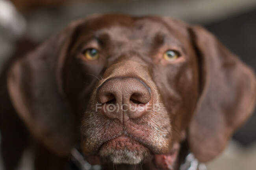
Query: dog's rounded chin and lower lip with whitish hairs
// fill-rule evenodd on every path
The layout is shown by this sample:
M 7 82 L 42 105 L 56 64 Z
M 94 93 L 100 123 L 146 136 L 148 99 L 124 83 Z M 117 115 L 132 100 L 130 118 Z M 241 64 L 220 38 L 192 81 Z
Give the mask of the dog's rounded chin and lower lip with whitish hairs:
M 104 143 L 100 148 L 104 162 L 135 165 L 152 158 L 148 148 L 129 137 L 117 137 Z

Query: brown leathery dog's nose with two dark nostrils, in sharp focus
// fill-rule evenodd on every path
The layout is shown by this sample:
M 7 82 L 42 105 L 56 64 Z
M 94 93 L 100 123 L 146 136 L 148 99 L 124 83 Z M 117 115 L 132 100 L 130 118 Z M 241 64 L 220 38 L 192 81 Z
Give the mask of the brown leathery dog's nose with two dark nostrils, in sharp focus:
M 104 115 L 124 123 L 147 111 L 151 89 L 140 79 L 115 77 L 106 80 L 98 88 L 97 97 Z

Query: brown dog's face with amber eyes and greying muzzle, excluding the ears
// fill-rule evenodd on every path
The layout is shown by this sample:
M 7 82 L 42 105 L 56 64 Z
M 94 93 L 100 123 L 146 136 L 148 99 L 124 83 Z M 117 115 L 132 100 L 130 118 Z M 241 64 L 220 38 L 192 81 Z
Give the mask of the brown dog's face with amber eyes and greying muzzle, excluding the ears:
M 76 31 L 63 77 L 85 155 L 137 164 L 170 153 L 198 99 L 188 34 L 160 18 L 111 15 Z

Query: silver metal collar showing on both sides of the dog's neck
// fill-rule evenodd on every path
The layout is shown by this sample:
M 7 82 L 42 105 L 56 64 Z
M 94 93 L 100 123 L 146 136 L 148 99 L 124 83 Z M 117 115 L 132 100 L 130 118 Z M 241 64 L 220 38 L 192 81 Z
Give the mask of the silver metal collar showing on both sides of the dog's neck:
M 83 155 L 76 148 L 73 148 L 71 151 L 71 161 L 72 164 L 76 166 L 76 170 L 102 169 L 100 165 L 90 165 L 85 161 L 85 159 L 83 159 Z M 199 163 L 195 156 L 190 153 L 186 156 L 185 162 L 180 165 L 180 170 L 207 170 L 207 168 L 205 164 Z

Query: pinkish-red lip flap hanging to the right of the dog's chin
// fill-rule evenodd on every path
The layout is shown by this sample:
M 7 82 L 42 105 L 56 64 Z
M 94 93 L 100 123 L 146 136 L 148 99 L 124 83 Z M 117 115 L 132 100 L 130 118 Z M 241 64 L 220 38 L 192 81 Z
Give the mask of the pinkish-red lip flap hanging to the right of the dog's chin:
M 174 170 L 179 148 L 179 145 L 174 145 L 170 154 L 154 155 L 156 167 L 160 168 L 160 170 Z

